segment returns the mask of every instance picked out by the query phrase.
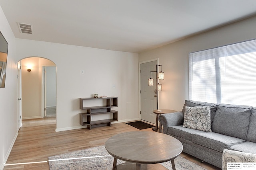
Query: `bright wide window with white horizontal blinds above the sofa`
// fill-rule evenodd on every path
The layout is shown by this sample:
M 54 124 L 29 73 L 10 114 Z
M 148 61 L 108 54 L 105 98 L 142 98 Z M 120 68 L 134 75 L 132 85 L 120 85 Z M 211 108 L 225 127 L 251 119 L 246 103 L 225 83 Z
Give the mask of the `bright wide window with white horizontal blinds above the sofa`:
M 189 99 L 256 106 L 256 40 L 190 53 Z

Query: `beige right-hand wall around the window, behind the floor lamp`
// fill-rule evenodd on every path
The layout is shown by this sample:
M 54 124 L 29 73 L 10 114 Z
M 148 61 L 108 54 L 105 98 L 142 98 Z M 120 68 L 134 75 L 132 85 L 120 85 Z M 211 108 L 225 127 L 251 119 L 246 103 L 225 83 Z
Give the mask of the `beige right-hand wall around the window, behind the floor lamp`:
M 256 38 L 256 16 L 139 54 L 139 61 L 159 58 L 164 80 L 159 108 L 181 111 L 188 99 L 188 53 Z

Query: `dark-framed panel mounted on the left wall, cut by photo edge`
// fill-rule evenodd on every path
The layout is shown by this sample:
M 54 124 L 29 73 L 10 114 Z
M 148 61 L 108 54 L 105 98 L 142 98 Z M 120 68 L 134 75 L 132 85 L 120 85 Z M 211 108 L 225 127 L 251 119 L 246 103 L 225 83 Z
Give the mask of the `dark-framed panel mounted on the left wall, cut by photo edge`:
M 0 88 L 5 87 L 8 43 L 0 31 Z

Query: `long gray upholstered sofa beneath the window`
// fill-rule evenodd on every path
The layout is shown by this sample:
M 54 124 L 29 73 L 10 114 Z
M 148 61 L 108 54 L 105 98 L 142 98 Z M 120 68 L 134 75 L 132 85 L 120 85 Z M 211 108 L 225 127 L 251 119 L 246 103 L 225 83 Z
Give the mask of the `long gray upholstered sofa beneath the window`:
M 198 106 L 210 106 L 207 108 L 211 132 L 183 127 L 184 115 L 188 116 L 188 109 Z M 186 100 L 182 111 L 162 114 L 159 121 L 163 126 L 163 133 L 182 143 L 183 152 L 219 168 L 222 168 L 224 149 L 256 154 L 256 107 Z M 203 129 L 207 127 L 204 123 L 201 124 Z

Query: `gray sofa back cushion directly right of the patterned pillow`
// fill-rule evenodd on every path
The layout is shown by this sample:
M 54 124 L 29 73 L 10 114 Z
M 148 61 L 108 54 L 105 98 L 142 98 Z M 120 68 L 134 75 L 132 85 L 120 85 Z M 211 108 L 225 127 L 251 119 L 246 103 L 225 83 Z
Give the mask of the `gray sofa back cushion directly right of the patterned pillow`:
M 212 131 L 246 140 L 251 106 L 217 104 Z

